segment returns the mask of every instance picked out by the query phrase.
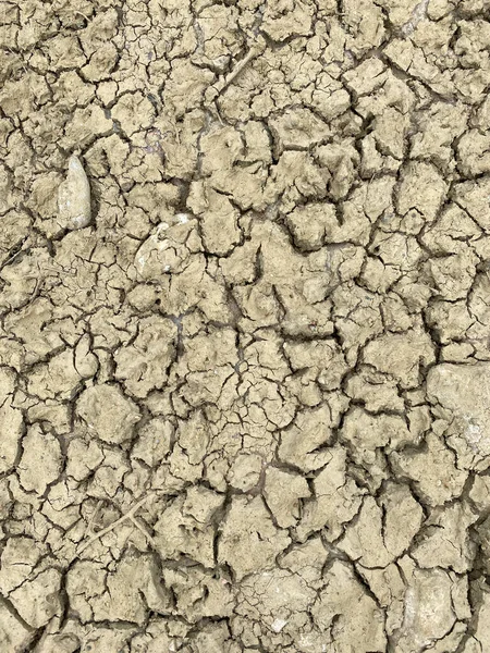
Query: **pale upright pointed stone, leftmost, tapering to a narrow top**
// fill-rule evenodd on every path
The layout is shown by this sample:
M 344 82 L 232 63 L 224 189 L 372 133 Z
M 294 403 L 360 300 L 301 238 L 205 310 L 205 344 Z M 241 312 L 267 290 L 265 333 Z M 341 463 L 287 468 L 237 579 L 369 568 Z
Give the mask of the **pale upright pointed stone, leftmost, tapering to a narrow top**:
M 60 223 L 65 229 L 83 229 L 90 224 L 90 185 L 76 155 L 70 157 L 66 180 L 58 190 L 58 209 Z

